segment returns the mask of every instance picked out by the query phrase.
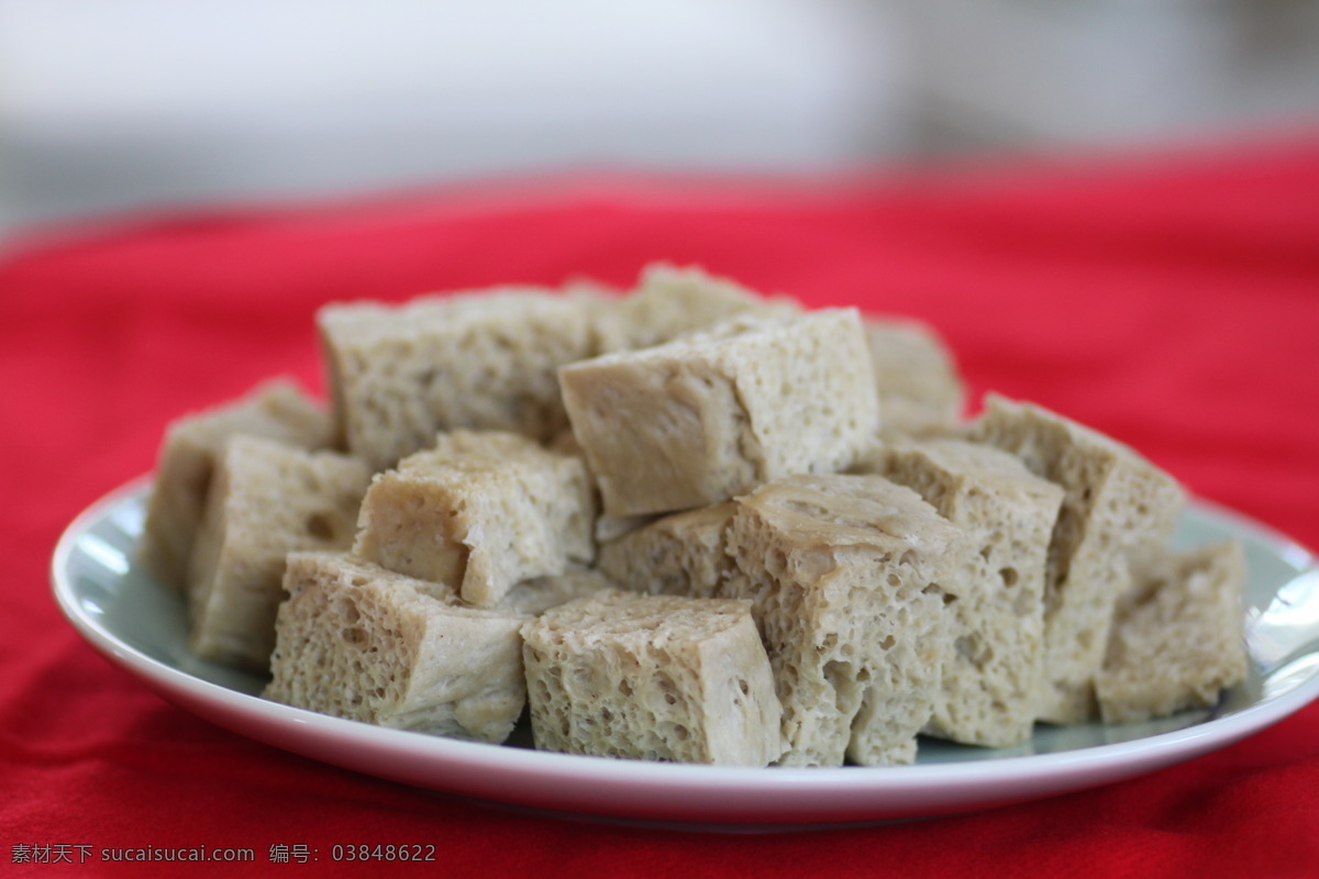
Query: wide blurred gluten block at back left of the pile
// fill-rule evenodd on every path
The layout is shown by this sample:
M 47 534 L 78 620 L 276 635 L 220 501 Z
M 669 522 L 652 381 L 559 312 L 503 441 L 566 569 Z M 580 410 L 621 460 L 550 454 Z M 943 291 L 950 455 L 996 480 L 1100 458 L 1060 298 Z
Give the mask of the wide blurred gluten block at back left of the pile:
M 567 426 L 555 370 L 596 353 L 594 302 L 509 287 L 322 308 L 317 322 L 346 448 L 381 470 L 445 430 L 550 440 Z

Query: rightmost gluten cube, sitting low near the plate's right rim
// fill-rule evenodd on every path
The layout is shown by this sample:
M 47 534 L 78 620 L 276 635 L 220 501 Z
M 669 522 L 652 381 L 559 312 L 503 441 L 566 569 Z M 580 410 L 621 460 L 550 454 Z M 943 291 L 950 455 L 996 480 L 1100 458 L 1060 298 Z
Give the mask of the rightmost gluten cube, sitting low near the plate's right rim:
M 1207 708 L 1245 680 L 1245 559 L 1236 540 L 1137 556 L 1095 679 L 1105 723 Z

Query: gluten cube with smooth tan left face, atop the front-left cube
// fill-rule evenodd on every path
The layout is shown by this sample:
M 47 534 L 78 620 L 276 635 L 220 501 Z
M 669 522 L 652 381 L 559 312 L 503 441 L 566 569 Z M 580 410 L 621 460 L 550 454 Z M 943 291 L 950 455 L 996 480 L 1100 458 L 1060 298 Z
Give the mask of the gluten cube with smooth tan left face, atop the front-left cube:
M 522 580 L 592 561 L 594 517 L 580 457 L 517 434 L 456 430 L 372 480 L 353 552 L 489 608 Z

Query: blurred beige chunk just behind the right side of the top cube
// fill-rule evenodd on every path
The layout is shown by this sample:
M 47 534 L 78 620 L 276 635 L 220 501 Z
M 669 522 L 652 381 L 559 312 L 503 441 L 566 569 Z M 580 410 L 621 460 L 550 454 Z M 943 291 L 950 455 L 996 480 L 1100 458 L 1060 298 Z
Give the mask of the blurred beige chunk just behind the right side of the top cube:
M 966 386 L 952 351 L 933 327 L 900 318 L 865 319 L 885 436 L 930 436 L 956 427 Z

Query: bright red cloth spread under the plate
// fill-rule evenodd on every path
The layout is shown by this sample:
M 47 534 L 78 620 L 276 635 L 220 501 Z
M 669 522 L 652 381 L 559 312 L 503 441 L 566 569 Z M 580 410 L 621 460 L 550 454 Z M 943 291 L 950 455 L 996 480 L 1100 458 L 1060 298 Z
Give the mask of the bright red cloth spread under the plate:
M 20 871 L 16 845 L 245 846 L 264 862 L 270 845 L 336 842 L 433 843 L 431 870 L 491 879 L 1319 872 L 1319 705 L 1101 789 L 719 836 L 487 808 L 293 756 L 166 704 L 57 613 L 57 535 L 153 465 L 170 418 L 276 373 L 321 386 L 321 303 L 625 285 L 656 258 L 925 318 L 976 395 L 1068 414 L 1319 547 L 1319 142 L 951 178 L 595 178 L 70 232 L 0 260 L 0 872 Z

